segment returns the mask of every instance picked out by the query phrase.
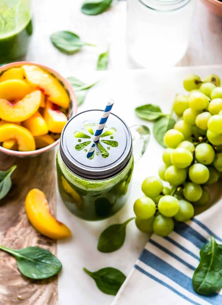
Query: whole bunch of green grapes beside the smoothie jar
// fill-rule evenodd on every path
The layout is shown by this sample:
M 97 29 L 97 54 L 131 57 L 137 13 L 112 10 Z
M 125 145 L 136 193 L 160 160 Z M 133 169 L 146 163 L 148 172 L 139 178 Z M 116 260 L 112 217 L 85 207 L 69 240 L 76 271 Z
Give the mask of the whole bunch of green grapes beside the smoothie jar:
M 167 148 L 159 177 L 143 181 L 144 196 L 134 203 L 137 228 L 159 236 L 169 235 L 176 221 L 190 220 L 197 206 L 209 204 L 205 186 L 222 176 L 220 77 L 210 74 L 201 80 L 191 74 L 183 87 L 188 94 L 175 97 L 173 110 L 179 120 L 164 135 Z

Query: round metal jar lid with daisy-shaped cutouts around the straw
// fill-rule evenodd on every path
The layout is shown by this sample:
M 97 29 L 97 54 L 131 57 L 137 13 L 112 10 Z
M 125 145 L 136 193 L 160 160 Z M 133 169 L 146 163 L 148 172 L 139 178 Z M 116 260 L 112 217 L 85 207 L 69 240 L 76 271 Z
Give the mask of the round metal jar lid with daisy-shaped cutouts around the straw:
M 124 169 L 132 155 L 129 127 L 113 113 L 110 113 L 98 143 L 93 142 L 102 113 L 102 110 L 78 113 L 68 120 L 61 133 L 63 162 L 74 174 L 86 179 L 115 176 Z

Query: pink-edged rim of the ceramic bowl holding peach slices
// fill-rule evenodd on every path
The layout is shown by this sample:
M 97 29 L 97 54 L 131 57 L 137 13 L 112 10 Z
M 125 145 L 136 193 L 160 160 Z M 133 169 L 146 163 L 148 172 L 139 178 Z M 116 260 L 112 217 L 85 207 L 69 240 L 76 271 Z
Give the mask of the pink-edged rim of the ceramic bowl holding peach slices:
M 16 62 L 16 63 L 9 63 L 7 65 L 4 65 L 4 66 L 1 66 L 0 67 L 0 75 L 2 74 L 3 71 L 6 71 L 10 68 L 13 68 L 13 67 L 20 67 L 22 65 L 35 65 L 35 66 L 39 66 L 40 68 L 43 68 L 44 70 L 48 71 L 50 74 L 52 74 L 54 77 L 57 78 L 57 80 L 63 85 L 63 87 L 65 88 L 65 90 L 67 91 L 68 95 L 69 95 L 69 99 L 70 99 L 70 106 L 69 106 L 69 109 L 68 109 L 68 119 L 70 117 L 72 117 L 73 114 L 76 114 L 76 111 L 77 111 L 77 100 L 76 100 L 76 96 L 75 96 L 75 93 L 72 89 L 72 86 L 71 84 L 64 78 L 62 77 L 59 73 L 57 73 L 55 70 L 49 68 L 49 67 L 46 67 L 46 66 L 43 66 L 43 65 L 40 65 L 38 63 L 32 63 L 32 62 L 27 62 L 27 61 L 19 61 L 19 62 Z M 33 150 L 33 151 L 28 151 L 28 152 L 20 152 L 20 151 L 15 151 L 15 150 L 10 150 L 10 149 L 6 149 L 2 146 L 0 146 L 0 152 L 4 152 L 6 153 L 7 155 L 9 156 L 14 156 L 14 157 L 32 157 L 32 156 L 37 156 L 43 152 L 46 152 L 47 150 L 55 147 L 57 144 L 59 143 L 59 139 L 56 140 L 54 143 L 46 146 L 46 147 L 43 147 L 41 149 L 36 149 L 36 150 Z

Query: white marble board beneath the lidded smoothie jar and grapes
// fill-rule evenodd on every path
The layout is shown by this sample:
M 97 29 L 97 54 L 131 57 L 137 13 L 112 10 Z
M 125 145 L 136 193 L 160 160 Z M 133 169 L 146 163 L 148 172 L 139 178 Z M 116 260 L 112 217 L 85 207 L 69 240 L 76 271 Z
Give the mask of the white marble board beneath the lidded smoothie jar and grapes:
M 183 93 L 182 80 L 189 73 L 199 74 L 201 77 L 215 73 L 222 77 L 222 66 L 172 68 L 164 71 L 92 72 L 87 76 L 82 73 L 83 80 L 102 78 L 102 81 L 90 89 L 84 104 L 78 111 L 103 108 L 104 103 L 112 96 L 115 99 L 113 113 L 124 119 L 129 126 L 145 123 L 152 131 L 152 123 L 138 119 L 134 108 L 145 103 L 153 103 L 161 106 L 163 112 L 168 112 L 174 95 L 178 92 Z M 71 74 L 72 72 L 64 70 L 64 76 Z M 100 253 L 97 250 L 98 237 L 110 224 L 124 222 L 134 216 L 133 203 L 142 195 L 141 183 L 146 176 L 158 174 L 158 167 L 162 163 L 162 151 L 163 148 L 151 135 L 147 151 L 135 164 L 128 203 L 108 220 L 82 221 L 63 206 L 58 196 L 57 218 L 65 222 L 72 231 L 72 239 L 60 241 L 57 246 L 57 255 L 63 264 L 58 281 L 59 305 L 110 305 L 112 303 L 114 297 L 100 292 L 93 279 L 85 274 L 82 268 L 96 271 L 109 266 L 121 270 L 125 275 L 129 274 L 148 236 L 139 232 L 134 221 L 131 221 L 127 227 L 124 246 L 113 253 Z

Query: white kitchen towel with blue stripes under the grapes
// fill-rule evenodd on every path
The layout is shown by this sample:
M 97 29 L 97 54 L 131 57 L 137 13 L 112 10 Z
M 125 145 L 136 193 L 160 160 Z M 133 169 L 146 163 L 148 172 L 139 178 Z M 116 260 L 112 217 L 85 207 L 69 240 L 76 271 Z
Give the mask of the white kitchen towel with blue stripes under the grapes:
M 202 246 L 211 235 L 222 243 L 221 204 L 177 223 L 167 237 L 153 234 L 112 305 L 222 305 L 222 291 L 202 296 L 192 286 Z

